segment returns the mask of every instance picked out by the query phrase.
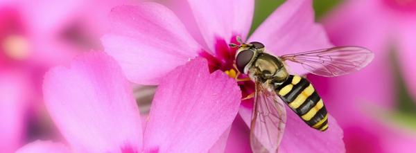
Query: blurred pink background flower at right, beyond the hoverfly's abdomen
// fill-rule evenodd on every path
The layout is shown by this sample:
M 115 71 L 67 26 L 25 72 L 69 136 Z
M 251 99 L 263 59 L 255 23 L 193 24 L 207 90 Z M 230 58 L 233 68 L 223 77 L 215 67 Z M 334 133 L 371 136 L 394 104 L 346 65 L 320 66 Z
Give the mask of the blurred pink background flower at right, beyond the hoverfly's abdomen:
M 327 99 L 327 107 L 345 132 L 347 152 L 414 152 L 415 136 L 380 123 L 366 104 L 391 108 L 395 84 L 391 69 L 392 47 L 399 55 L 401 68 L 410 89 L 416 86 L 416 1 L 368 0 L 345 1 L 324 25 L 336 45 L 370 48 L 376 58 L 372 64 L 353 75 L 338 78 L 311 76 L 315 87 Z M 416 95 L 416 94 L 415 94 Z M 374 105 L 370 105 L 374 106 Z

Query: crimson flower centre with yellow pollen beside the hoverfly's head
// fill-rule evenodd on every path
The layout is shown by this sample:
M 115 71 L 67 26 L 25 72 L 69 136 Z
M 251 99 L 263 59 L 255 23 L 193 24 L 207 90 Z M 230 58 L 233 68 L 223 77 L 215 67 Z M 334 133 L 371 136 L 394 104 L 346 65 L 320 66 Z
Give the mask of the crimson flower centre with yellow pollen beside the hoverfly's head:
M 232 37 L 231 43 L 239 44 L 236 42 L 236 37 Z M 208 60 L 209 71 L 220 70 L 226 73 L 230 78 L 234 78 L 241 89 L 242 98 L 247 97 L 254 92 L 254 82 L 248 78 L 248 75 L 239 73 L 236 69 L 234 58 L 236 56 L 237 48 L 230 48 L 224 39 L 218 38 L 215 44 L 215 55 L 207 51 L 200 52 L 201 57 L 205 57 Z

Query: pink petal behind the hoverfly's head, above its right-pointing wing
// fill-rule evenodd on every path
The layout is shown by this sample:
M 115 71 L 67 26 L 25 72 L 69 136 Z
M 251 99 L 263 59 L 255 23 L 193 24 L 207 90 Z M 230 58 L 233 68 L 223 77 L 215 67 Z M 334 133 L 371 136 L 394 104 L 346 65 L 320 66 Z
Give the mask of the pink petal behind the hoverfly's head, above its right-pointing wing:
M 275 55 L 331 47 L 322 26 L 315 24 L 313 14 L 311 0 L 286 1 L 254 31 L 249 42 L 261 42 Z M 300 64 L 288 64 L 293 73 L 306 73 Z

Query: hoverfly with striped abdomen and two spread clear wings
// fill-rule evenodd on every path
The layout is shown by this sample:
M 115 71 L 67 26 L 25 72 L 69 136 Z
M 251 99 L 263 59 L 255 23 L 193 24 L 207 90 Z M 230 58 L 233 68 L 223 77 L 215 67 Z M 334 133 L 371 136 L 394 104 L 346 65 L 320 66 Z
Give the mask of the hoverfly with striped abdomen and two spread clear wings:
M 255 83 L 250 127 L 253 152 L 277 152 L 286 123 L 284 103 L 314 129 L 328 129 L 327 109 L 311 82 L 289 74 L 286 60 L 302 64 L 315 75 L 335 77 L 362 69 L 374 54 L 358 46 L 337 46 L 315 51 L 274 56 L 260 42 L 244 43 L 237 37 L 236 69 Z

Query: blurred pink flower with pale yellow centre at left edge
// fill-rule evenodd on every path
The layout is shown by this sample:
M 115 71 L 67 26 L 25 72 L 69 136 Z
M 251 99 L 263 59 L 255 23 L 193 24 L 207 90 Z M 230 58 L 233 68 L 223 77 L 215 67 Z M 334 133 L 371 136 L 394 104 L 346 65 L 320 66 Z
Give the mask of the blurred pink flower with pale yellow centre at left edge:
M 98 38 L 107 28 L 107 13 L 120 4 L 112 0 L 0 1 L 1 152 L 14 152 L 30 137 L 26 126 L 33 126 L 27 123 L 41 114 L 46 69 L 101 48 Z

